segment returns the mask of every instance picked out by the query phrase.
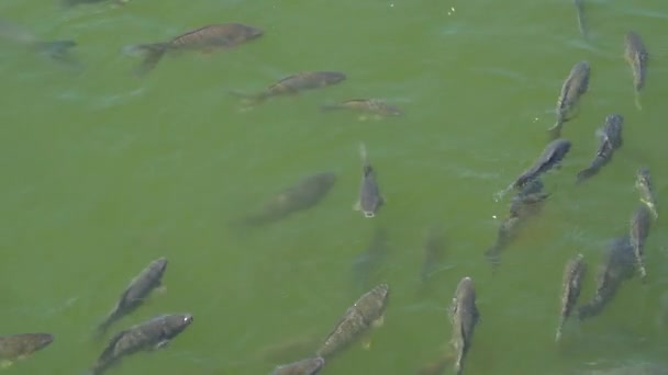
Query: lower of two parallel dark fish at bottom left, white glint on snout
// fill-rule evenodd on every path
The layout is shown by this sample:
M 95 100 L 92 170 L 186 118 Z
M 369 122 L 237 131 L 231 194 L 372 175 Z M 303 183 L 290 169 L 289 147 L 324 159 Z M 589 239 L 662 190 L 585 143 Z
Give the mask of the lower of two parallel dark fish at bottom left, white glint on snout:
M 160 315 L 116 333 L 90 371 L 100 375 L 116 365 L 124 356 L 165 349 L 169 342 L 192 323 L 191 314 Z

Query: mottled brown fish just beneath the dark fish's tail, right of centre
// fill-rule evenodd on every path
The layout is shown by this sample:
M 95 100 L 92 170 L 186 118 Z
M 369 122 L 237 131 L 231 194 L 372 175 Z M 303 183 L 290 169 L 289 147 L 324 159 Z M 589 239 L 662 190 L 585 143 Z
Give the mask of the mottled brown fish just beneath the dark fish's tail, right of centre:
M 543 192 L 543 186 L 541 180 L 531 180 L 513 196 L 509 215 L 499 226 L 494 245 L 485 252 L 492 265 L 500 264 L 501 252 L 516 238 L 521 228 L 541 213 L 549 196 L 549 193 Z

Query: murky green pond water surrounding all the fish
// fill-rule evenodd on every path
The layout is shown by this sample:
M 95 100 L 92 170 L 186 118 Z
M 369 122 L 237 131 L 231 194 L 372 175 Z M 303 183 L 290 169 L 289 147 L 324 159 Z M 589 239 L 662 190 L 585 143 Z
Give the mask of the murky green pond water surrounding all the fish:
M 91 339 L 96 325 L 160 255 L 169 260 L 167 291 L 112 331 L 164 312 L 189 311 L 194 322 L 169 349 L 127 357 L 109 373 L 267 374 L 279 363 L 263 356 L 267 346 L 324 338 L 359 297 L 353 264 L 377 227 L 390 238 L 370 280 L 390 285 L 385 325 L 370 350 L 350 346 L 323 374 L 415 373 L 449 339 L 446 308 L 463 276 L 474 279 L 482 316 L 467 374 L 568 374 L 668 355 L 663 217 L 647 241 L 648 283 L 625 283 L 601 316 L 569 325 L 561 348 L 554 342 L 564 264 L 584 254 L 581 298 L 589 298 L 601 250 L 627 230 L 641 164 L 653 172 L 664 215 L 663 0 L 586 0 L 589 42 L 566 0 L 46 3 L 3 0 L 0 12 L 43 38 L 76 39 L 86 69 L 8 44 L 0 52 L 0 331 L 56 337 L 8 374 L 84 373 L 104 348 Z M 265 35 L 233 50 L 168 56 L 143 79 L 130 73 L 140 59 L 121 53 L 233 21 Z M 650 53 L 643 111 L 623 59 L 627 30 Z M 492 195 L 542 151 L 561 82 L 581 59 L 592 78 L 579 116 L 564 128 L 574 146 L 544 179 L 553 195 L 542 215 L 492 277 L 482 252 L 509 204 Z M 248 112 L 227 94 L 299 70 L 341 70 L 347 80 Z M 405 115 L 360 122 L 319 111 L 365 96 Z M 576 188 L 609 113 L 625 117 L 624 146 Z M 374 219 L 352 211 L 359 141 L 388 201 Z M 338 179 L 318 206 L 259 230 L 230 229 L 322 170 Z M 445 260 L 420 293 L 434 223 L 445 228 Z

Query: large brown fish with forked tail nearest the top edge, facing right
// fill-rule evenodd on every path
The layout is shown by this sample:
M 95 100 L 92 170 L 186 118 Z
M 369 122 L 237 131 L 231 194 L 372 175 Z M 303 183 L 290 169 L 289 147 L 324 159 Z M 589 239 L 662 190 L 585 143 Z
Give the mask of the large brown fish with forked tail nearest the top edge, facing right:
M 202 26 L 174 37 L 169 42 L 149 44 L 137 44 L 125 46 L 126 54 L 144 53 L 145 57 L 138 69 L 137 76 L 143 76 L 153 70 L 168 52 L 199 50 L 211 53 L 215 49 L 229 49 L 249 41 L 259 38 L 265 34 L 263 29 L 238 23 L 220 23 Z

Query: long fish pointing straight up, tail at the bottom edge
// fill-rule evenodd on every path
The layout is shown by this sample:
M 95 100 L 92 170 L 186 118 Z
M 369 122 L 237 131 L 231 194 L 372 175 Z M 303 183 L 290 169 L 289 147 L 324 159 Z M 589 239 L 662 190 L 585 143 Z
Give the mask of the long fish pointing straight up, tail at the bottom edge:
M 450 322 L 453 337 L 450 345 L 456 354 L 455 372 L 457 375 L 464 371 L 464 360 L 471 348 L 474 331 L 480 321 L 480 314 L 476 305 L 476 289 L 471 277 L 464 277 L 457 284 L 455 297 L 450 305 Z

